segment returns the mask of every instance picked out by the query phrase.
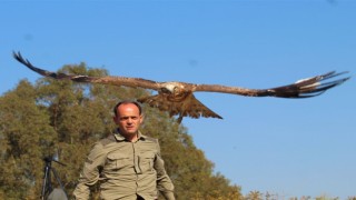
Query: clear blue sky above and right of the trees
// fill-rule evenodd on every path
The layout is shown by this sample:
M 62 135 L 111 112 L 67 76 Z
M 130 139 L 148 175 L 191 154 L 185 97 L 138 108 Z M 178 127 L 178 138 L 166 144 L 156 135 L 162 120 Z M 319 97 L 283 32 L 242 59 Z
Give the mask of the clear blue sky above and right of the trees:
M 86 62 L 155 81 L 265 89 L 328 71 L 310 99 L 196 93 L 224 119 L 189 119 L 197 148 L 246 194 L 356 196 L 355 0 L 0 0 L 0 93 Z

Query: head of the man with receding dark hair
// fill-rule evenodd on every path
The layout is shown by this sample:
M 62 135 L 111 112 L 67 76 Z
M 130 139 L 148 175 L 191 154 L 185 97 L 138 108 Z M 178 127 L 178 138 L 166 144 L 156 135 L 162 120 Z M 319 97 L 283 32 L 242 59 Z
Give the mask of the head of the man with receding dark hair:
M 117 109 L 117 116 L 113 121 L 119 126 L 120 133 L 132 137 L 137 133 L 144 117 L 139 113 L 139 109 L 134 103 L 120 104 Z

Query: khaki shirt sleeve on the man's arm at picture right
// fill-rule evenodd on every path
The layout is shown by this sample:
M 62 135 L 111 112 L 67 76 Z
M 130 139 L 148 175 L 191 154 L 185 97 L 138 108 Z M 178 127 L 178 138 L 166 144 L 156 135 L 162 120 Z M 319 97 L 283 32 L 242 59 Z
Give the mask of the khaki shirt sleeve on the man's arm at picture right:
M 166 200 L 175 200 L 174 194 L 174 183 L 171 182 L 170 178 L 168 177 L 165 162 L 160 157 L 160 147 L 157 142 L 158 153 L 155 160 L 155 169 L 157 171 L 157 189 L 161 192 L 161 194 L 166 198 Z

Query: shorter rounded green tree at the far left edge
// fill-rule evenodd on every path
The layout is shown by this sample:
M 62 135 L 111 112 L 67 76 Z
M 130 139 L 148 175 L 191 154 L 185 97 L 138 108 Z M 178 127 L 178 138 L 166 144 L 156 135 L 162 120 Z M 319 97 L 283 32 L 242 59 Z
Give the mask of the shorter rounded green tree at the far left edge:
M 36 90 L 21 81 L 0 99 L 0 193 L 6 198 L 34 197 L 40 190 L 41 159 L 51 153 L 56 132 L 46 112 L 36 106 Z

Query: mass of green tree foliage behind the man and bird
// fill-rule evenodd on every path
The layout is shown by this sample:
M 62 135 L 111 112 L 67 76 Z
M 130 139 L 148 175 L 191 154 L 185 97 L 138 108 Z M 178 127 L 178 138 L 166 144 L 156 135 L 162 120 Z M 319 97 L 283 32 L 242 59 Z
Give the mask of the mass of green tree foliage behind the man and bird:
M 108 74 L 85 63 L 65 66 L 60 71 Z M 113 106 L 145 94 L 149 91 L 48 78 L 34 86 L 20 81 L 0 97 L 0 199 L 39 199 L 42 159 L 55 152 L 66 166 L 53 162 L 52 167 L 71 197 L 91 146 L 115 129 Z M 243 199 L 239 187 L 214 173 L 214 163 L 195 147 L 185 127 L 149 107 L 145 107 L 145 116 L 142 132 L 159 139 L 177 199 Z M 95 188 L 93 196 L 97 193 Z

